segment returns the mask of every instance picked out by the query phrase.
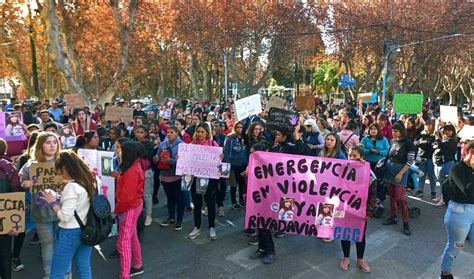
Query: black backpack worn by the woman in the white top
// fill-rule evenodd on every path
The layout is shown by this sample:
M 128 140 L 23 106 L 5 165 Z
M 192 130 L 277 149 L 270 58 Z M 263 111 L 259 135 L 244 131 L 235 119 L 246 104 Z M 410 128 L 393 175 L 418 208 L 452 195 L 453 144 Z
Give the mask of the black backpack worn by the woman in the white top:
M 98 194 L 94 195 L 90 200 L 86 225 L 82 223 L 76 211 L 74 211 L 74 217 L 81 227 L 82 241 L 87 246 L 95 246 L 106 240 L 114 224 L 109 201 L 104 196 Z

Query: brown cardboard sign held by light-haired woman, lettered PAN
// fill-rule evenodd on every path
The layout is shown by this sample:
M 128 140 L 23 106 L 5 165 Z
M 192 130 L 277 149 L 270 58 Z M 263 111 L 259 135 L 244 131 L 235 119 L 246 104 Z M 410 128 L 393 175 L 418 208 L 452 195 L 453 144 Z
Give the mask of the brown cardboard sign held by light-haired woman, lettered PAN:
M 63 191 L 64 185 L 61 177 L 54 169 L 54 163 L 34 163 L 30 168 L 30 178 L 33 181 L 31 193 L 41 193 L 51 189 L 56 193 Z

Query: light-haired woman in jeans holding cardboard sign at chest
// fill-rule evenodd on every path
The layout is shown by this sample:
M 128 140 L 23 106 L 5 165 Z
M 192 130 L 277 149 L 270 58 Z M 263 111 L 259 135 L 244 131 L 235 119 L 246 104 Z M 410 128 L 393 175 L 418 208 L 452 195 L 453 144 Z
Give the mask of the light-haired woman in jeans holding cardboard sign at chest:
M 30 189 L 33 186 L 30 169 L 34 163 L 52 163 L 58 159 L 60 151 L 61 143 L 58 137 L 50 132 L 41 132 L 33 147 L 31 158 L 20 170 L 21 187 Z M 36 225 L 36 232 L 41 243 L 44 277 L 49 278 L 58 218 L 51 208 L 39 198 L 38 193 L 33 194 L 31 199 L 31 217 Z

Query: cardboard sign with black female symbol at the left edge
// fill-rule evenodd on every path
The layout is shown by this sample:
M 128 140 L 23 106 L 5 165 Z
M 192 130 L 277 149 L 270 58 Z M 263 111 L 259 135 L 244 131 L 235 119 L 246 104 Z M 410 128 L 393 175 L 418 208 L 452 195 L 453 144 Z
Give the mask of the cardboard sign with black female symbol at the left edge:
M 25 232 L 25 193 L 0 194 L 0 235 L 10 230 Z

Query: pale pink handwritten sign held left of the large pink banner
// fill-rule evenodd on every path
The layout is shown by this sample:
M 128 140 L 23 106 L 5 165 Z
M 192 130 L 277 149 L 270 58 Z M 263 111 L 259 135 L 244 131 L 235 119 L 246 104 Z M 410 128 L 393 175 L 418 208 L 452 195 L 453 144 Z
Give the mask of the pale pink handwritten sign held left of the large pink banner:
M 201 178 L 217 179 L 221 177 L 222 147 L 180 144 L 176 175 L 194 175 Z

